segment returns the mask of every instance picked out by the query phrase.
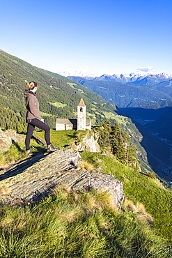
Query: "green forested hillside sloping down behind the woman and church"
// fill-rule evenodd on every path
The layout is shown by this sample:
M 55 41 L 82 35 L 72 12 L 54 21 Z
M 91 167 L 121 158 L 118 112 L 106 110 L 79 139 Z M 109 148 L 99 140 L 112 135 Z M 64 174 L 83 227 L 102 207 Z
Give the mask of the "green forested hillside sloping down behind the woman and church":
M 62 80 L 63 79 L 63 80 Z M 105 121 L 107 116 L 116 114 L 116 105 L 108 103 L 97 94 L 79 84 L 65 82 L 49 75 L 45 70 L 0 51 L 0 127 L 17 128 L 24 123 L 26 108 L 24 105 L 24 89 L 26 82 L 38 82 L 37 98 L 40 101 L 40 111 L 49 126 L 54 128 L 56 117 L 76 118 L 77 105 L 81 98 L 87 106 L 88 118 L 93 125 Z M 6 108 L 6 109 L 5 109 Z M 10 115 L 13 111 L 13 124 Z M 19 117 L 23 119 L 18 119 Z

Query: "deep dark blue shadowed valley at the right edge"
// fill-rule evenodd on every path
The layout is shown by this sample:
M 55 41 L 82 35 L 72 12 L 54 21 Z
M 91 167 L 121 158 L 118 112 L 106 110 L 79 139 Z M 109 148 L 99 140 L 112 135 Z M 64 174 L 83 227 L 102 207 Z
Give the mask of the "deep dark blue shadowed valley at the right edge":
M 166 181 L 172 181 L 172 160 L 171 160 L 171 123 L 162 123 L 166 113 L 171 113 L 171 107 L 163 109 L 141 109 L 141 108 L 121 108 L 125 116 L 129 116 L 136 128 L 139 129 L 143 140 L 141 145 L 146 150 L 148 162 L 153 170 L 160 178 Z M 151 126 L 155 121 L 162 124 L 162 134 L 159 133 L 159 128 Z M 168 128 L 169 127 L 169 128 Z M 170 130 L 169 134 L 167 133 Z

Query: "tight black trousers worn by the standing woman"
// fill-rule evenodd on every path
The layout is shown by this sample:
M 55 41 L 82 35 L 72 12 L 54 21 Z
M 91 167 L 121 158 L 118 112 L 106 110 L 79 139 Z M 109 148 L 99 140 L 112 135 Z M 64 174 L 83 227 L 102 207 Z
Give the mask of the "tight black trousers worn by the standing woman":
M 31 136 L 33 135 L 33 130 L 35 127 L 40 128 L 45 131 L 45 141 L 47 145 L 51 144 L 50 142 L 50 128 L 45 123 L 38 119 L 32 119 L 31 123 L 28 123 L 27 134 L 25 139 L 26 151 L 30 149 Z

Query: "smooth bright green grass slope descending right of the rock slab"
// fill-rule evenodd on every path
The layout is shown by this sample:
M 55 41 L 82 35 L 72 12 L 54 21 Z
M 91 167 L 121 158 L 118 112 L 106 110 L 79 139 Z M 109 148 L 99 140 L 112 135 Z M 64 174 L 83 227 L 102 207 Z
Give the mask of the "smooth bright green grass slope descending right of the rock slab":
M 172 242 L 172 192 L 170 190 L 166 190 L 157 179 L 127 168 L 106 155 L 84 151 L 81 157 L 94 167 L 101 164 L 102 172 L 113 174 L 116 179 L 123 182 L 125 197 L 134 204 L 143 203 L 146 211 L 153 216 L 156 233 Z M 99 163 L 97 160 L 102 162 Z

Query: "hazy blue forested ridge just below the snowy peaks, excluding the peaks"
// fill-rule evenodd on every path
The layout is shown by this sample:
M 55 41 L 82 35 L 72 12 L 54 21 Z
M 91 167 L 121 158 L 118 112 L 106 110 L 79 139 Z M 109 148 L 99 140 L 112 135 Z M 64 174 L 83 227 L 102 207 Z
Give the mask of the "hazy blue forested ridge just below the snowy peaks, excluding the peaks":
M 68 77 L 86 88 L 100 94 L 102 98 L 115 103 L 119 109 L 126 107 L 162 108 L 172 106 L 171 86 L 150 86 L 146 84 L 125 84 L 105 80 L 88 80 L 84 77 Z

